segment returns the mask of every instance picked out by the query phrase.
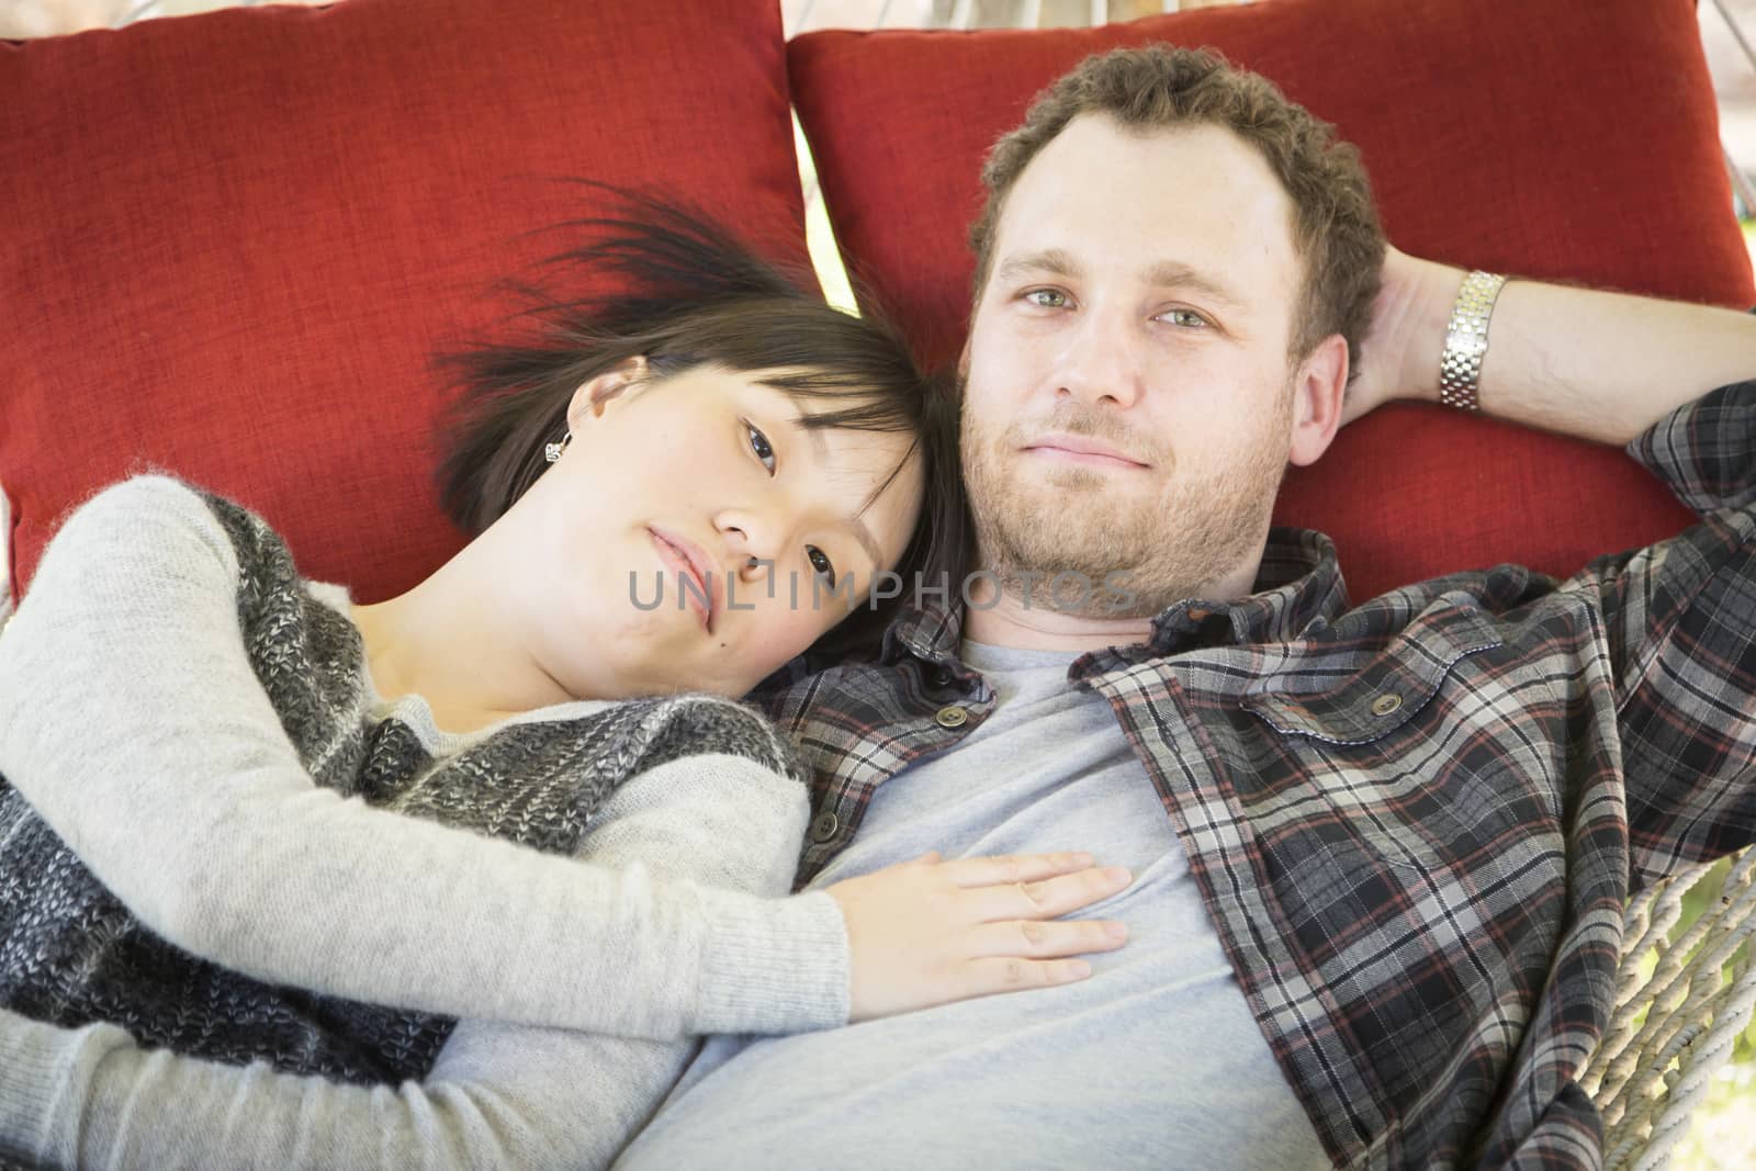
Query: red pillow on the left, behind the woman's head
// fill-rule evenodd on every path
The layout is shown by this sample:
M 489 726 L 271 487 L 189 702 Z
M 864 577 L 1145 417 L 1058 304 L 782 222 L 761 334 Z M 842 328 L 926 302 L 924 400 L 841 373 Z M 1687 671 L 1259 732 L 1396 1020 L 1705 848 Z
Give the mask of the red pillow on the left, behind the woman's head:
M 430 355 L 602 212 L 699 202 L 804 262 L 771 0 L 346 0 L 0 42 L 0 485 L 23 585 L 142 465 L 362 600 L 460 542 Z

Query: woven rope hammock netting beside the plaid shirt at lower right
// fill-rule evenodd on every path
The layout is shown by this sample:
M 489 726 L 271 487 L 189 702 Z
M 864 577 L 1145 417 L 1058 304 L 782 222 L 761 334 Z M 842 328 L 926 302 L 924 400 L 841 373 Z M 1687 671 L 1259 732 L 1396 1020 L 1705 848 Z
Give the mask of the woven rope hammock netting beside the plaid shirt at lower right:
M 1719 897 L 1675 941 L 1682 895 L 1714 864 L 1693 866 L 1628 902 L 1616 1011 L 1580 1076 L 1603 1115 L 1605 1171 L 1659 1171 L 1689 1129 L 1756 1008 L 1756 848 L 1733 855 Z M 1656 955 L 1651 976 L 1645 967 Z

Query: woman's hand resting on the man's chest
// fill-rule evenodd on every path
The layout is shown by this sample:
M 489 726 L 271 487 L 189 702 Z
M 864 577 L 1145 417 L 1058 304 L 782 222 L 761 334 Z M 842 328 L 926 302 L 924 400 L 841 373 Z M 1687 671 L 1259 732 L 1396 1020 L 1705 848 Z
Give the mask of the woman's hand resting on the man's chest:
M 1113 952 L 1117 922 L 1050 922 L 1108 899 L 1133 881 L 1089 853 L 1020 853 L 913 862 L 827 887 L 841 906 L 853 953 L 852 1020 L 873 1020 L 994 992 L 1047 988 L 1090 974 L 1064 959 Z

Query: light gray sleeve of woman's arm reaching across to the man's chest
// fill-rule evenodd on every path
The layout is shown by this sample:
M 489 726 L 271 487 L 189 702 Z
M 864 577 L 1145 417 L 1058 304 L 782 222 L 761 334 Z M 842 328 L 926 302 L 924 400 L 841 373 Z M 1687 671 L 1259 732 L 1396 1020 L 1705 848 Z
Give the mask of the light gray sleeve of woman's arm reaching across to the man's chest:
M 314 785 L 235 588 L 202 499 L 140 478 L 63 525 L 0 636 L 0 774 L 155 932 L 260 980 L 507 1024 L 674 1039 L 846 1020 L 829 895 L 581 864 Z M 774 844 L 787 866 L 797 843 Z

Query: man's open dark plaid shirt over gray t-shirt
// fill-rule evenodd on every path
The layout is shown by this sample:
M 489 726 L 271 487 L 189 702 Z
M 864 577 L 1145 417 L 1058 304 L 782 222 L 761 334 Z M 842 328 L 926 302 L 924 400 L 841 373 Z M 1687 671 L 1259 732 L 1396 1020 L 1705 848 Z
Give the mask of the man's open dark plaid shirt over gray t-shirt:
M 1623 906 L 1756 837 L 1756 381 L 1628 451 L 1702 521 L 1566 581 L 1498 565 L 1359 607 L 1328 537 L 1277 528 L 1254 595 L 1068 671 L 1157 790 L 1336 1166 L 1600 1166 L 1575 1078 Z M 878 785 L 994 709 L 961 621 L 913 609 L 874 662 L 773 681 L 813 771 L 801 885 Z

